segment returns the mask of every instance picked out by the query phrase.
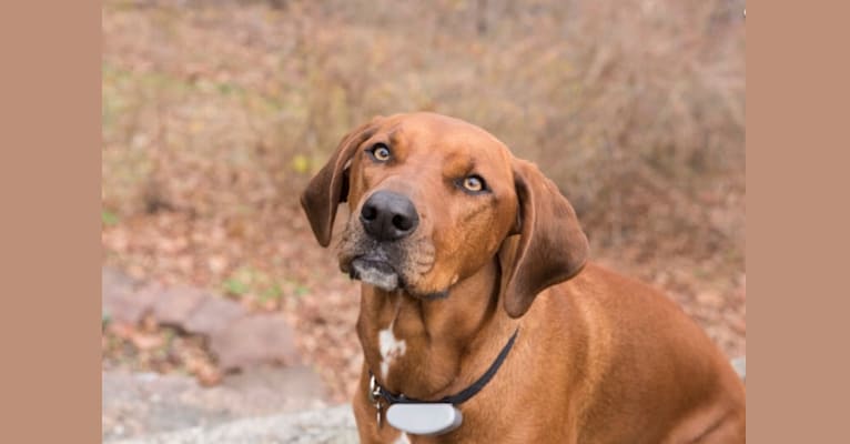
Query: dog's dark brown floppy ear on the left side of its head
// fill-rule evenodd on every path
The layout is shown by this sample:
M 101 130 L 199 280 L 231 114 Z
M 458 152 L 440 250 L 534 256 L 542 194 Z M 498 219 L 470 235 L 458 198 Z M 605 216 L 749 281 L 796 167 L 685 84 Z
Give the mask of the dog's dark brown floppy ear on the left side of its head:
M 301 206 L 307 214 L 310 226 L 322 246 L 331 243 L 331 234 L 340 203 L 348 198 L 348 164 L 354 153 L 366 139 L 374 134 L 381 117 L 360 125 L 345 134 L 318 173 L 311 179 L 301 194 Z

